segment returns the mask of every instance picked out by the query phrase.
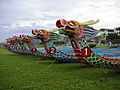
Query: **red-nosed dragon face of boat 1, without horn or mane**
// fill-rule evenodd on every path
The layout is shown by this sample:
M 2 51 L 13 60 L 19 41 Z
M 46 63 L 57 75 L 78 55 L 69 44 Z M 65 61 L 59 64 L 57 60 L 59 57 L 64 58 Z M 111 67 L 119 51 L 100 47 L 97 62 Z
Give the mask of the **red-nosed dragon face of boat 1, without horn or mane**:
M 65 19 L 59 19 L 56 22 L 56 26 L 60 28 L 59 32 L 69 37 L 80 38 L 82 37 L 83 30 L 80 25 L 76 25 L 73 21 L 66 21 Z

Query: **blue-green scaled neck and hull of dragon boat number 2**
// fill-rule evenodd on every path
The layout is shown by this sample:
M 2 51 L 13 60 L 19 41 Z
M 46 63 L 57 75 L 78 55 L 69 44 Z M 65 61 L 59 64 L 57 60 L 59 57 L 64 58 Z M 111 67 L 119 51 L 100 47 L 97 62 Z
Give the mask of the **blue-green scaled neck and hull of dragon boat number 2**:
M 58 40 L 60 38 L 60 35 L 56 33 L 51 33 L 51 38 L 49 41 L 45 42 L 45 45 L 47 47 L 47 52 L 50 53 L 52 57 L 54 57 L 56 60 L 61 62 L 80 62 L 79 59 L 77 59 L 76 56 L 70 55 L 70 54 L 63 54 L 61 51 L 56 49 L 56 46 L 53 44 L 54 41 Z M 51 49 L 53 49 L 53 53 L 51 53 Z

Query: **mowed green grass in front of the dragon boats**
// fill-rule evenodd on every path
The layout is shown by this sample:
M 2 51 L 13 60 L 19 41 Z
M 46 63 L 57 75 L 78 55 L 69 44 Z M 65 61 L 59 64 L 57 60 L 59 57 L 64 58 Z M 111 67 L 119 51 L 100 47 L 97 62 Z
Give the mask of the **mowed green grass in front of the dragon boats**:
M 120 90 L 120 71 L 53 62 L 0 49 L 0 90 Z

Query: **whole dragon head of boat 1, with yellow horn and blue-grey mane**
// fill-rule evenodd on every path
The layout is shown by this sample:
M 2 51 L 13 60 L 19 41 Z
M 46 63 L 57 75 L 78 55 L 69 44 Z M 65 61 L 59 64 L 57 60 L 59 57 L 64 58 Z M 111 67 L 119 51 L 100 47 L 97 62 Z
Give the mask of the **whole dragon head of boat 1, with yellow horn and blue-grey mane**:
M 80 37 L 94 37 L 97 35 L 98 30 L 92 28 L 92 24 L 99 22 L 99 19 L 96 21 L 89 20 L 87 22 L 79 23 L 75 20 L 66 21 L 65 19 L 59 19 L 56 22 L 56 26 L 59 28 L 59 32 L 69 37 L 80 38 Z

